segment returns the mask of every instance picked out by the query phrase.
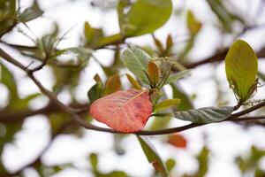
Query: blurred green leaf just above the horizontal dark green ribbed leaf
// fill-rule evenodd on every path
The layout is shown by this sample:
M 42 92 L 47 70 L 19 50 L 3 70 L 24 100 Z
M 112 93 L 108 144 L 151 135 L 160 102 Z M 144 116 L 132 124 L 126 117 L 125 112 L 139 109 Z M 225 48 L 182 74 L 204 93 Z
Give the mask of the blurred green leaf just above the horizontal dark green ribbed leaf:
M 189 96 L 178 85 L 170 84 L 173 91 L 173 98 L 178 97 L 181 100 L 181 104 L 178 104 L 178 111 L 192 110 L 193 102 Z

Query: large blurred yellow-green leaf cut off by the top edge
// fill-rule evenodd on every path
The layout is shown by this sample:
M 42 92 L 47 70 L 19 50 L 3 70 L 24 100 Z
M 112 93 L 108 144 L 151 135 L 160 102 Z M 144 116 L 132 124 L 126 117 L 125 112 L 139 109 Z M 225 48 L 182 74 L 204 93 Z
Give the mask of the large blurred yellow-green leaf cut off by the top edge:
M 170 0 L 137 0 L 127 14 L 120 11 L 119 24 L 125 36 L 145 35 L 170 18 L 172 4 Z

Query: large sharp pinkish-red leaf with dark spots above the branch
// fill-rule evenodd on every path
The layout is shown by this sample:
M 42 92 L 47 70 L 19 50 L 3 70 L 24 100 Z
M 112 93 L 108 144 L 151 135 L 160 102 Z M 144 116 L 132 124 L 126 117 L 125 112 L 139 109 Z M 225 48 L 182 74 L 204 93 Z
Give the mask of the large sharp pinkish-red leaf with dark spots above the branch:
M 96 100 L 89 112 L 93 118 L 119 132 L 133 133 L 146 125 L 152 104 L 148 90 L 128 89 Z

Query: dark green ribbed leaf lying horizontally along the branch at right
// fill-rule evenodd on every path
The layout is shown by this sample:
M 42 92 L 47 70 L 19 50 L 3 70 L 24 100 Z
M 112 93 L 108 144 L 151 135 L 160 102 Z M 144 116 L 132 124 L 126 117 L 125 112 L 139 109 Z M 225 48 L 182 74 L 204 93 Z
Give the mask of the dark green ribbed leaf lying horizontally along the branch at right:
M 212 123 L 227 119 L 231 115 L 231 112 L 233 112 L 232 106 L 223 106 L 206 107 L 186 112 L 175 112 L 173 115 L 177 119 L 188 120 L 193 123 Z

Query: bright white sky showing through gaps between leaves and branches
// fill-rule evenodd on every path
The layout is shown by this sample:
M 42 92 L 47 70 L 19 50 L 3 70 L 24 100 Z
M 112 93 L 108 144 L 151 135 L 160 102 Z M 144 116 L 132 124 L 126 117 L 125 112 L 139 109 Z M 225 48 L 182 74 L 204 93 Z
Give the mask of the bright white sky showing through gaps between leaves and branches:
M 79 35 L 82 32 L 83 23 L 85 20 L 93 27 L 103 27 L 106 34 L 114 34 L 118 32 L 117 14 L 116 12 L 101 12 L 97 9 L 92 9 L 86 0 L 72 1 L 72 3 L 66 3 L 66 0 L 45 0 L 41 1 L 41 6 L 45 11 L 43 18 L 36 19 L 28 23 L 28 26 L 34 31 L 37 36 L 47 32 L 51 27 L 51 20 L 56 20 L 61 27 L 62 33 L 73 27 L 72 31 L 66 36 L 67 39 L 62 42 L 61 47 L 72 47 L 79 43 Z M 176 3 L 177 2 L 177 3 Z M 209 14 L 208 6 L 204 0 L 173 0 L 175 7 L 182 5 L 186 2 L 185 7 L 192 9 L 196 14 L 196 17 L 203 22 L 203 28 L 201 35 L 198 36 L 196 46 L 191 53 L 191 58 L 200 59 L 209 56 L 214 53 L 220 46 L 222 38 L 216 27 L 212 26 L 212 22 L 215 21 L 215 17 Z M 256 8 L 257 0 L 252 1 L 253 5 L 250 8 L 245 5 L 246 1 L 234 0 L 241 5 L 242 10 L 247 10 L 251 14 L 251 9 Z M 31 4 L 31 1 L 21 0 L 23 7 L 27 7 Z M 245 11 L 244 10 L 244 11 Z M 185 24 L 184 19 L 171 18 L 169 22 L 157 32 L 155 35 L 165 41 L 165 37 L 171 33 L 174 36 L 174 41 L 178 42 L 185 39 Z M 264 18 L 263 18 L 264 19 Z M 261 46 L 261 39 L 264 38 L 264 29 L 257 30 L 254 34 L 248 34 L 244 36 L 244 39 L 254 46 L 255 49 L 259 49 Z M 5 38 L 12 43 L 28 44 L 28 40 L 25 36 L 13 33 L 7 35 Z M 150 43 L 151 37 L 149 35 L 133 38 L 128 40 L 133 43 Z M 111 58 L 111 51 L 99 50 L 95 53 L 96 57 L 100 59 L 103 65 L 109 65 Z M 19 54 L 16 54 L 19 57 Z M 27 63 L 28 61 L 25 60 Z M 265 72 L 264 62 L 260 63 L 260 70 Z M 16 73 L 16 79 L 19 81 L 19 95 L 27 96 L 38 89 L 34 86 L 34 83 L 25 77 L 25 74 L 19 72 L 18 69 L 14 69 Z M 94 84 L 93 75 L 99 73 L 103 76 L 102 71 L 99 69 L 93 60 L 89 62 L 89 65 L 82 74 L 76 94 L 80 101 L 87 102 L 87 90 Z M 213 66 L 201 66 L 193 70 L 193 74 L 190 78 L 181 81 L 181 85 L 186 89 L 189 94 L 196 94 L 195 100 L 196 107 L 203 107 L 215 104 L 216 99 L 216 84 L 210 78 L 216 73 L 217 78 L 221 81 L 221 88 L 225 90 L 227 97 L 230 100 L 234 100 L 233 95 L 228 87 L 225 79 L 224 65 Z M 50 69 L 45 67 L 42 71 L 37 73 L 38 79 L 42 81 L 42 84 L 51 89 L 54 81 L 53 75 L 50 73 Z M 6 90 L 0 85 L 1 95 L 0 105 L 5 103 Z M 170 90 L 169 90 L 170 92 Z M 265 91 L 261 88 L 255 96 L 256 98 L 264 98 Z M 60 100 L 64 103 L 69 101 L 69 95 L 67 92 L 59 96 Z M 34 109 L 40 108 L 47 104 L 47 98 L 38 98 L 32 103 Z M 234 104 L 234 101 L 231 102 Z M 174 125 L 179 126 L 183 122 L 174 122 Z M 100 124 L 102 125 L 102 124 Z M 207 141 L 203 139 L 204 135 L 208 135 Z M 206 142 L 212 150 L 211 153 L 211 165 L 209 166 L 209 172 L 207 177 L 239 177 L 239 169 L 236 168 L 233 163 L 233 157 L 239 154 L 246 154 L 252 144 L 257 145 L 260 148 L 265 148 L 265 129 L 261 127 L 252 127 L 244 130 L 242 127 L 231 123 L 220 123 L 208 125 L 206 127 L 198 127 L 188 130 L 183 133 L 188 140 L 187 150 L 178 150 L 160 141 L 158 136 L 152 138 L 156 149 L 159 151 L 164 159 L 175 158 L 178 165 L 175 169 L 175 173 L 194 172 L 197 167 L 196 161 L 193 159 L 193 155 L 197 154 L 204 142 Z M 27 119 L 23 130 L 16 135 L 15 144 L 10 144 L 4 149 L 4 162 L 10 170 L 17 170 L 22 165 L 27 164 L 34 159 L 36 155 L 42 150 L 42 147 L 49 141 L 49 122 L 43 116 L 34 116 Z M 135 136 L 129 135 L 122 142 L 126 154 L 122 157 L 117 157 L 113 152 L 112 144 L 113 136 L 106 133 L 99 133 L 94 131 L 86 131 L 86 135 L 82 138 L 77 138 L 72 135 L 61 135 L 57 138 L 56 142 L 52 145 L 50 150 L 43 157 L 43 162 L 47 165 L 61 164 L 65 162 L 73 162 L 79 170 L 68 169 L 63 173 L 57 174 L 56 177 L 87 177 L 85 172 L 90 168 L 87 163 L 87 156 L 91 152 L 98 152 L 100 156 L 100 168 L 102 171 L 108 172 L 112 169 L 125 170 L 133 176 L 149 176 L 151 175 L 150 169 L 152 166 L 148 164 L 143 152 L 140 149 L 139 142 L 136 141 Z M 263 160 L 262 168 L 265 169 L 265 162 Z M 28 177 L 37 176 L 33 170 L 27 170 Z M 92 176 L 89 174 L 88 176 Z

